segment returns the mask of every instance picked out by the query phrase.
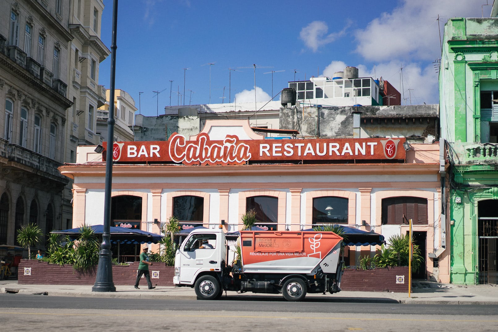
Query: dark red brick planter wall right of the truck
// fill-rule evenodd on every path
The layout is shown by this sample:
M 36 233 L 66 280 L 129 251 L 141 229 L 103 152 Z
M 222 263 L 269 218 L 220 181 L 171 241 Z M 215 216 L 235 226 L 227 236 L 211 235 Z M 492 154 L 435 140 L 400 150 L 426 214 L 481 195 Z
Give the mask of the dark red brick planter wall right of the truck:
M 397 283 L 396 283 L 397 281 Z M 408 267 L 396 266 L 374 270 L 344 270 L 343 291 L 408 293 Z

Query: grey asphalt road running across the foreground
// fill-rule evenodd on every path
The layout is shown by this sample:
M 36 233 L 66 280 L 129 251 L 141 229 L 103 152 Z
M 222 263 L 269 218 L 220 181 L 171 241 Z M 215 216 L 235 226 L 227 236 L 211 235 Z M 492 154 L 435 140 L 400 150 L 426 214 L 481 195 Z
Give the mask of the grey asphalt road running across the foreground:
M 5 331 L 497 331 L 498 306 L 0 294 Z

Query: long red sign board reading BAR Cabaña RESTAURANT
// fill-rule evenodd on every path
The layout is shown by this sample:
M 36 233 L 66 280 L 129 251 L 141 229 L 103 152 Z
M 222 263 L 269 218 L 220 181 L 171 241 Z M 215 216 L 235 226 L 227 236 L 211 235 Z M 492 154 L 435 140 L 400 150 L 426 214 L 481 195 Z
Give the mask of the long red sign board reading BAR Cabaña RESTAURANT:
M 196 141 L 179 134 L 168 141 L 115 142 L 115 162 L 172 162 L 185 165 L 243 165 L 246 162 L 404 159 L 404 138 L 239 140 L 227 135 L 211 141 L 201 133 Z M 104 148 L 107 148 L 104 143 Z M 104 158 L 106 153 L 103 154 Z

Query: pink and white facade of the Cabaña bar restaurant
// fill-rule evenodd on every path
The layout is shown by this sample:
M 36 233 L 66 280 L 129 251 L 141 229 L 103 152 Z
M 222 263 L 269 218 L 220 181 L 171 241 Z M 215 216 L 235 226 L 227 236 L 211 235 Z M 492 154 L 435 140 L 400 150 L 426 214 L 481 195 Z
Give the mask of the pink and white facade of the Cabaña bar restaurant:
M 223 142 L 227 135 L 236 136 L 232 152 L 239 151 L 233 155 L 240 160 L 203 163 L 202 158 L 190 158 L 190 165 L 171 161 L 182 155 L 180 148 L 188 149 L 189 142 L 198 142 L 200 136 L 212 143 Z M 260 220 L 256 225 L 263 228 L 301 230 L 340 223 L 382 234 L 388 242 L 392 235 L 408 232 L 407 218 L 415 217 L 413 232 L 425 258 L 419 278 L 449 282 L 449 249 L 444 249 L 449 238 L 441 225 L 438 143 L 412 144 L 405 152 L 404 139 L 395 140 L 394 155 L 390 156 L 390 151 L 379 157 L 385 146 L 393 146 L 391 141 L 315 141 L 323 143 L 327 151 L 320 151 L 321 145 L 314 145 L 313 139 L 288 141 L 265 140 L 250 129 L 248 121 L 213 120 L 199 135 L 177 145 L 177 150 L 170 141 L 115 143 L 115 148 L 121 144 L 122 150 L 120 156 L 115 155 L 113 166 L 113 221 L 159 233 L 176 215 L 184 228 L 202 225 L 233 232 L 242 229 L 242 216 L 254 209 Z M 310 141 L 318 149 L 308 149 Z M 140 148 L 142 143 L 145 148 Z M 248 160 L 239 144 L 250 148 Z M 129 148 L 131 145 L 136 149 Z M 104 220 L 105 161 L 94 149 L 79 147 L 77 163 L 59 168 L 74 179 L 73 227 L 102 224 Z M 363 155 L 358 156 L 358 152 Z M 189 153 L 190 157 L 195 155 Z M 149 162 L 149 157 L 156 160 Z M 120 197 L 135 203 L 131 206 Z M 346 265 L 356 265 L 365 255 L 373 257 L 379 248 L 349 247 Z M 430 257 L 436 251 L 438 256 Z

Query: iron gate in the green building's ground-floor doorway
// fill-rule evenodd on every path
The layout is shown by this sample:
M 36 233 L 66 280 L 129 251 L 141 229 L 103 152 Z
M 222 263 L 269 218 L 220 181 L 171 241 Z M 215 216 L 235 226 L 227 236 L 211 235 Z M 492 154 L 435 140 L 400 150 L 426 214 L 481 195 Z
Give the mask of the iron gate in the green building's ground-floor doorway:
M 498 218 L 479 218 L 479 284 L 497 284 Z

